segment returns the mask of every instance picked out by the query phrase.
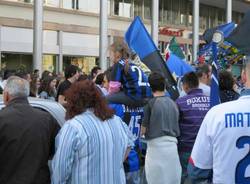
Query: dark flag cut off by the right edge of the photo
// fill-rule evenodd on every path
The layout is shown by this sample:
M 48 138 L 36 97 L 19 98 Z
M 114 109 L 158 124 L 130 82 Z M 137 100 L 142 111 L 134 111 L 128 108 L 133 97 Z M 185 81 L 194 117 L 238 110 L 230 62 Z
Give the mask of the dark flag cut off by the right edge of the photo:
M 243 20 L 226 38 L 226 41 L 239 49 L 242 53 L 250 54 L 250 11 L 247 11 Z

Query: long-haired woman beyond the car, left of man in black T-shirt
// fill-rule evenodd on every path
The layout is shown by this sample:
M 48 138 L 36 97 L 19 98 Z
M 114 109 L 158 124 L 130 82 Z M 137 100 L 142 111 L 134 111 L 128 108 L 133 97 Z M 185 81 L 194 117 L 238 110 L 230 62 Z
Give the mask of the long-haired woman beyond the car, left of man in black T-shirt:
M 56 98 L 56 78 L 52 76 L 45 77 L 41 86 L 38 90 L 38 94 L 40 98 L 54 100 Z

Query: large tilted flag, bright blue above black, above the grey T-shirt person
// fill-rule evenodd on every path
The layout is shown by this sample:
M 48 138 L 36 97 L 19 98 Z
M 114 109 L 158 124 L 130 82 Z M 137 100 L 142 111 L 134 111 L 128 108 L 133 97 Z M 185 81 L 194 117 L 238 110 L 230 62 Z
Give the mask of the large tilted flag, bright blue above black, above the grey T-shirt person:
M 125 33 L 125 41 L 141 61 L 151 70 L 162 72 L 168 81 L 167 90 L 172 99 L 177 99 L 177 83 L 167 68 L 164 59 L 146 30 L 140 17 L 136 17 Z

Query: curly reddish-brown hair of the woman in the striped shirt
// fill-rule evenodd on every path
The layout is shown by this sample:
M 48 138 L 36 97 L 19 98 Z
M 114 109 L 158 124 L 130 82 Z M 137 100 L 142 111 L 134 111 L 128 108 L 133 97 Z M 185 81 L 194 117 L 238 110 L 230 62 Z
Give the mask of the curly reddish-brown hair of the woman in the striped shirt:
M 90 80 L 76 82 L 66 91 L 66 120 L 93 109 L 94 114 L 101 120 L 113 117 L 114 111 L 109 108 L 105 98 L 101 96 L 94 82 Z

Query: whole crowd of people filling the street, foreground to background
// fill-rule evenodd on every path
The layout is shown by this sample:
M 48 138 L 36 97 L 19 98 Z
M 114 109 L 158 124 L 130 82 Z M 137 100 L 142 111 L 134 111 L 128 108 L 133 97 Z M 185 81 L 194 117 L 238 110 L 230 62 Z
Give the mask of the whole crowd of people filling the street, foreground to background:
M 124 43 L 109 50 L 113 65 L 89 76 L 74 65 L 64 76 L 4 72 L 0 183 L 249 183 L 250 58 L 241 84 L 231 71 L 219 73 L 222 104 L 211 109 L 209 64 L 182 77 L 174 101 L 161 72 L 147 76 Z M 65 124 L 31 107 L 28 96 L 60 103 Z

